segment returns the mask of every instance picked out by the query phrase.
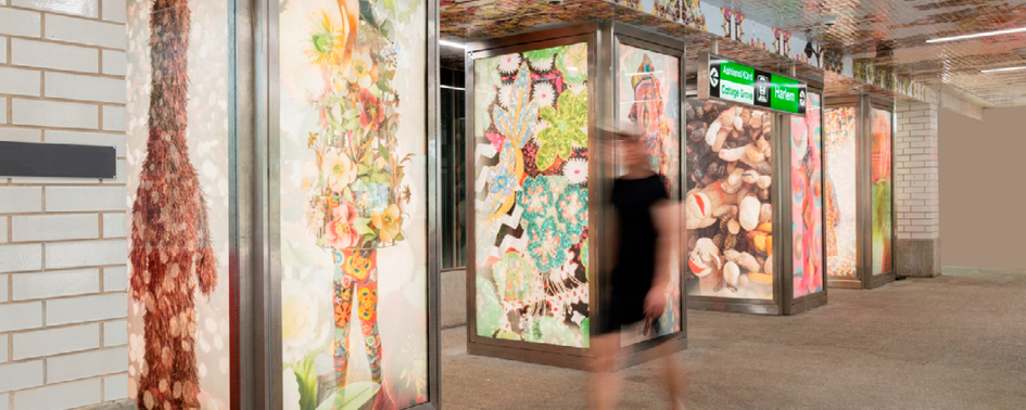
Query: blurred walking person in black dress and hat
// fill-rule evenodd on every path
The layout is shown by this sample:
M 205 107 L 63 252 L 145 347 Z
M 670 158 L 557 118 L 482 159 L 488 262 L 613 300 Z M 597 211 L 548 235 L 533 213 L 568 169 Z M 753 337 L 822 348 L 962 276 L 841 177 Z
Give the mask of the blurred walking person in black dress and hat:
M 616 260 L 599 326 L 592 344 L 597 360 L 593 381 L 593 409 L 615 409 L 620 400 L 617 357 L 620 332 L 644 325 L 651 332 L 667 305 L 670 257 L 677 234 L 676 206 L 671 203 L 662 177 L 651 170 L 644 133 L 633 125 L 608 130 L 619 142 L 625 174 L 612 184 Z M 673 356 L 659 359 L 673 410 L 684 409 L 684 380 Z

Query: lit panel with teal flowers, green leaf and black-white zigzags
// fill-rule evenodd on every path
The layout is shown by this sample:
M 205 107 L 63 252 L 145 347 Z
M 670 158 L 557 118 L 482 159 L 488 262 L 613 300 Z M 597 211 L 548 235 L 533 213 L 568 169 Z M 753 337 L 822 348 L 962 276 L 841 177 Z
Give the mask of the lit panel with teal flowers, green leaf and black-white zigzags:
M 474 61 L 477 334 L 588 345 L 587 44 Z

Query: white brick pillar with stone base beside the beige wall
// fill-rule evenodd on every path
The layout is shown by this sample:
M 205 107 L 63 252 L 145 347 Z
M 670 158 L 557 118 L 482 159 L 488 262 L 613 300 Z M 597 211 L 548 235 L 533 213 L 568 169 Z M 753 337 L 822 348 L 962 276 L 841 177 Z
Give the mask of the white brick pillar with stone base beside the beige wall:
M 937 105 L 899 101 L 895 136 L 898 274 L 940 274 Z

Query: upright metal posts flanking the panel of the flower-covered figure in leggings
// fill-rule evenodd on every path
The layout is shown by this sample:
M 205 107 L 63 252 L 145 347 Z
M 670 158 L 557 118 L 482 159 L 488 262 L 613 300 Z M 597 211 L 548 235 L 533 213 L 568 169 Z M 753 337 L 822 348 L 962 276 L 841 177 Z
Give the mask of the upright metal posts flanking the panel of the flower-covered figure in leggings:
M 245 74 L 236 80 L 236 88 L 244 91 L 235 95 L 238 106 L 253 108 L 240 111 L 235 118 L 238 130 L 236 139 L 249 149 L 246 155 L 252 164 L 242 161 L 239 165 L 240 190 L 249 193 L 252 201 L 251 216 L 240 216 L 239 239 L 252 248 L 240 255 L 244 258 L 242 270 L 246 278 L 240 281 L 241 329 L 248 330 L 241 341 L 240 373 L 241 409 L 282 408 L 281 380 L 281 258 L 280 247 L 280 169 L 279 169 L 279 43 L 278 2 L 271 0 L 235 0 L 238 20 L 236 30 L 240 46 L 233 56 L 239 72 Z M 427 156 L 427 354 L 428 354 L 428 401 L 407 409 L 428 410 L 441 406 L 441 333 L 439 315 L 439 274 L 441 270 L 441 150 L 439 130 L 439 14 L 438 2 L 426 4 L 425 41 L 427 64 L 425 65 L 426 95 L 426 145 Z M 250 66 L 252 65 L 252 68 Z M 252 88 L 251 88 L 252 87 Z M 252 140 L 242 138 L 252 132 Z M 245 181 L 241 179 L 244 178 Z M 252 191 L 250 191 L 252 190 Z M 252 281 L 252 283 L 246 283 Z M 239 401 L 237 401 L 239 402 Z

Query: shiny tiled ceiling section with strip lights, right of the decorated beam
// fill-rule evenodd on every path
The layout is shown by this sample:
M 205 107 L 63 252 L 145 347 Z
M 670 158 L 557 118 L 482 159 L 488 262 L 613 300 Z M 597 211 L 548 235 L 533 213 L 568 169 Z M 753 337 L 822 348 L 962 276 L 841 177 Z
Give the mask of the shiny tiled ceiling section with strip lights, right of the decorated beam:
M 926 40 L 1026 27 L 1026 0 L 712 0 L 749 18 L 803 33 L 854 59 L 954 87 L 993 106 L 1026 105 L 1026 33 L 927 43 Z

